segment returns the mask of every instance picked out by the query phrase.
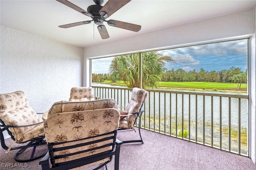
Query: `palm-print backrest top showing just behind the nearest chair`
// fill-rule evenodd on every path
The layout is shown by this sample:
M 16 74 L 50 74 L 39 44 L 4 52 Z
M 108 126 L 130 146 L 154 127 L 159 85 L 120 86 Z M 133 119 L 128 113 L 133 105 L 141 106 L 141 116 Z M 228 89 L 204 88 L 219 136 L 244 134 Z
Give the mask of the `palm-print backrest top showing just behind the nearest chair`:
M 48 111 L 48 117 L 56 113 L 106 108 L 118 109 L 118 105 L 114 99 L 101 99 L 94 101 L 59 101 L 52 105 L 52 107 Z

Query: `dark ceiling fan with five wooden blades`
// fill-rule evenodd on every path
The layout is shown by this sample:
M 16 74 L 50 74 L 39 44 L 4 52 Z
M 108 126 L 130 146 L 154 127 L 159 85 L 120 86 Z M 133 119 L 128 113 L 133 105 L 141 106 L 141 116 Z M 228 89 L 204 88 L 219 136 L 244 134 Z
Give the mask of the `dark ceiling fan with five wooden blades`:
M 93 21 L 94 24 L 98 25 L 97 28 L 102 39 L 109 38 L 108 31 L 106 29 L 106 26 L 103 24 L 103 22 L 107 22 L 109 26 L 122 28 L 125 30 L 130 30 L 134 32 L 140 31 L 141 26 L 136 24 L 130 24 L 127 22 L 122 22 L 117 20 L 108 20 L 108 21 L 106 20 L 108 17 L 110 17 L 112 14 L 114 14 L 117 10 L 122 8 L 131 0 L 108 0 L 108 2 L 106 2 L 104 6 L 101 6 L 101 4 L 103 3 L 103 0 L 93 0 L 95 5 L 88 6 L 87 12 L 67 0 L 56 0 L 56 1 L 92 18 L 92 20 L 89 20 L 89 21 L 75 22 L 72 24 L 62 25 L 62 26 L 59 26 L 60 28 L 70 28 L 74 26 L 90 24 Z

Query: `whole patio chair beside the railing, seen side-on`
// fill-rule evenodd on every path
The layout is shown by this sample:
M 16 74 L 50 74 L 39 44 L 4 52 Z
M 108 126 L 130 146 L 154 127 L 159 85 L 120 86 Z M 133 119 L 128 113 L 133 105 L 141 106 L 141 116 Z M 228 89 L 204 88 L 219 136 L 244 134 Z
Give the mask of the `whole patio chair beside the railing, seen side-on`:
M 128 103 L 128 105 L 125 108 L 124 114 L 122 115 L 120 122 L 119 122 L 119 128 L 118 130 L 127 130 L 127 129 L 133 129 L 135 132 L 134 124 L 136 121 L 138 121 L 138 129 L 139 129 L 139 134 L 140 134 L 140 124 L 141 124 L 141 118 L 142 118 L 142 113 L 144 110 L 142 109 L 142 106 L 148 96 L 148 92 L 144 89 L 139 89 L 137 87 L 134 87 L 132 89 L 132 97 Z M 121 107 L 122 109 L 122 107 Z M 124 119 L 122 119 L 125 117 Z M 131 143 L 131 142 L 142 142 L 142 137 L 140 134 L 140 140 L 126 140 L 122 141 L 123 143 Z

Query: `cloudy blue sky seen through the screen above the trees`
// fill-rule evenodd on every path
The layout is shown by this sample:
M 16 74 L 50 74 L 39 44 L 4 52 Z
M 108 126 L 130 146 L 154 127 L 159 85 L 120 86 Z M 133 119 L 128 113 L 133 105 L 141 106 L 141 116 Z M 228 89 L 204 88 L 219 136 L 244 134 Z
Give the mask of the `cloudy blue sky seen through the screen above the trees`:
M 247 40 L 236 40 L 206 45 L 195 45 L 176 49 L 161 50 L 163 55 L 174 58 L 176 64 L 166 63 L 166 68 L 182 68 L 186 72 L 203 68 L 206 71 L 221 71 L 230 67 L 247 69 Z M 113 57 L 93 59 L 92 73 L 108 73 Z

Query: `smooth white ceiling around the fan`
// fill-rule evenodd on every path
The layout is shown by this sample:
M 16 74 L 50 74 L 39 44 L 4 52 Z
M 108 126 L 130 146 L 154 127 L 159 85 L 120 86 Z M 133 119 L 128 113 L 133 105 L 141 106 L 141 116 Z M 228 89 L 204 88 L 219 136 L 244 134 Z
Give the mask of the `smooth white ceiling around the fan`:
M 94 4 L 93 0 L 69 1 L 85 11 Z M 102 6 L 106 2 L 104 0 Z M 93 23 L 59 28 L 60 25 L 91 18 L 56 0 L 0 0 L 0 24 L 58 42 L 88 47 L 255 6 L 256 0 L 131 0 L 107 20 L 137 24 L 141 26 L 141 30 L 132 32 L 105 23 L 110 38 L 102 40 L 97 25 L 94 28 Z

